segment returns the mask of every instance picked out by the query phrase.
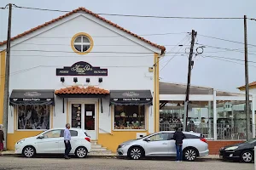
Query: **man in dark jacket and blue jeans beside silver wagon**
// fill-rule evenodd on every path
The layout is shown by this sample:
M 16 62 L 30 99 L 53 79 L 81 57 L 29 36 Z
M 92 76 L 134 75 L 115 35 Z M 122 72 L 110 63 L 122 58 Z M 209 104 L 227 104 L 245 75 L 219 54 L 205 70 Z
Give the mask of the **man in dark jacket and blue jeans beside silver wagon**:
M 185 139 L 185 135 L 183 132 L 178 128 L 175 127 L 175 133 L 173 134 L 173 139 L 175 140 L 176 144 L 176 161 L 182 161 L 183 160 L 183 139 Z

